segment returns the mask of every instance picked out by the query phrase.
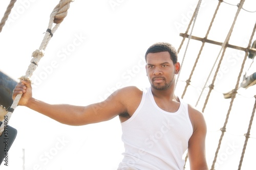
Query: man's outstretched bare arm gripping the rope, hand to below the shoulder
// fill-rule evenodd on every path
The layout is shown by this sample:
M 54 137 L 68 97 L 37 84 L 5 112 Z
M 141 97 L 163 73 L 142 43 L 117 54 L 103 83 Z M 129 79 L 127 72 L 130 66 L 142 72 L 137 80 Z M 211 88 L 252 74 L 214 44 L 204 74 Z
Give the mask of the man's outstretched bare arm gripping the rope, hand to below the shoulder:
M 31 83 L 29 81 L 21 81 L 14 88 L 13 99 L 17 94 L 23 94 L 18 105 L 26 106 L 62 124 L 80 126 L 103 122 L 125 112 L 126 108 L 122 103 L 121 91 L 117 90 L 105 101 L 88 106 L 51 105 L 34 99 L 32 97 Z

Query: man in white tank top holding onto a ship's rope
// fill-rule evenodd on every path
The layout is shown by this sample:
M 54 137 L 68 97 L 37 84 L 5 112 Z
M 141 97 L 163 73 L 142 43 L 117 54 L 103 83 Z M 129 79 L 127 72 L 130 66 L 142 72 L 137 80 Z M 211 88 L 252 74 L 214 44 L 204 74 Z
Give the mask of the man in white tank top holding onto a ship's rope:
M 28 81 L 13 91 L 27 106 L 67 125 L 87 125 L 119 116 L 124 158 L 118 169 L 183 169 L 188 150 L 191 170 L 206 170 L 206 124 L 202 113 L 175 95 L 175 75 L 180 71 L 175 48 L 165 42 L 150 46 L 145 54 L 151 87 L 118 89 L 101 103 L 89 106 L 51 105 L 32 98 Z M 104 107 L 100 107 L 104 105 Z

